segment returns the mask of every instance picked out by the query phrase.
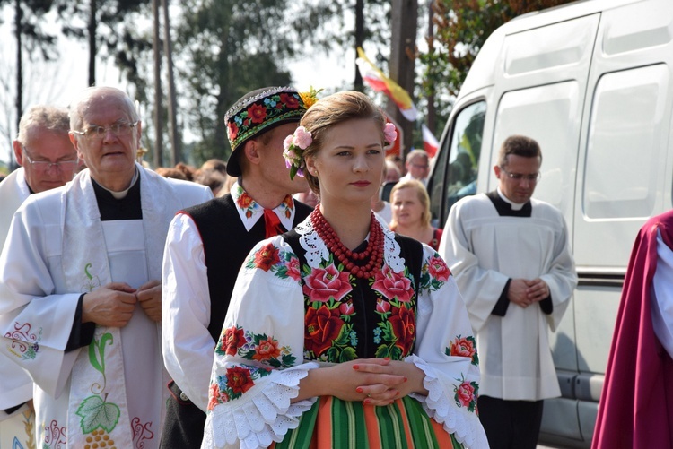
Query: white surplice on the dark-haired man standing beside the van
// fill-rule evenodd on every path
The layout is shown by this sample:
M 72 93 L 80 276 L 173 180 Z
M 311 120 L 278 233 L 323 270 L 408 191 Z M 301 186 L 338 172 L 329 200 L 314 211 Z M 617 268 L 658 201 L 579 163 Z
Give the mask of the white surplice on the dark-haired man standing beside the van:
M 561 321 L 577 274 L 561 212 L 531 199 L 530 217 L 500 216 L 485 194 L 454 204 L 439 253 L 456 277 L 476 333 L 479 393 L 505 400 L 538 401 L 561 394 L 549 348 L 549 329 Z M 547 283 L 554 310 L 510 303 L 492 315 L 508 279 Z

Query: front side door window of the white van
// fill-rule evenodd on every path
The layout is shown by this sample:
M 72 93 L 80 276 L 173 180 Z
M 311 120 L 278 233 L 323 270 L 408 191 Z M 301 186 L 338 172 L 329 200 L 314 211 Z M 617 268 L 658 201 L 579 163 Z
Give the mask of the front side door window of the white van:
M 463 108 L 454 119 L 450 138 L 444 140 L 439 151 L 428 183 L 430 210 L 439 226 L 443 226 L 453 203 L 476 193 L 485 114 L 485 101 Z

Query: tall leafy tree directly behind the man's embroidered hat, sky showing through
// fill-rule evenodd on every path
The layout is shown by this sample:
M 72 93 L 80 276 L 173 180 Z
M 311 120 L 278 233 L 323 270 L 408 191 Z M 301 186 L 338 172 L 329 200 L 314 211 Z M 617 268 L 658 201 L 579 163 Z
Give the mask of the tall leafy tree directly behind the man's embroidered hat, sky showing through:
M 200 140 L 193 156 L 226 159 L 227 109 L 248 91 L 290 84 L 285 63 L 321 19 L 312 8 L 289 14 L 283 0 L 187 0 L 182 7 L 175 50 L 183 60 L 179 79 L 187 84 L 186 123 Z

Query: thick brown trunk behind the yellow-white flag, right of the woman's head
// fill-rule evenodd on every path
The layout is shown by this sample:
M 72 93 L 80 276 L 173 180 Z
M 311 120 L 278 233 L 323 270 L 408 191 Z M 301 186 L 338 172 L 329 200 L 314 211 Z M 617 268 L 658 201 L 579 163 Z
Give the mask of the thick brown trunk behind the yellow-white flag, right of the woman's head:
M 390 43 L 390 78 L 414 97 L 415 43 L 418 28 L 418 1 L 392 0 L 392 42 Z M 414 142 L 414 122 L 410 122 L 399 112 L 392 99 L 386 108 L 404 132 L 404 148 L 400 156 L 409 152 Z

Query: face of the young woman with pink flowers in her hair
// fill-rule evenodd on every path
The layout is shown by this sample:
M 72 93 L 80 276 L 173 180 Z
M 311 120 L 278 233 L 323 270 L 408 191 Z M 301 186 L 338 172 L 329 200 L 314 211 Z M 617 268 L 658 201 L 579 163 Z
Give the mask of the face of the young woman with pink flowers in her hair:
M 320 184 L 323 206 L 333 202 L 370 203 L 383 176 L 384 151 L 380 126 L 369 118 L 334 125 L 319 151 L 307 158 Z

